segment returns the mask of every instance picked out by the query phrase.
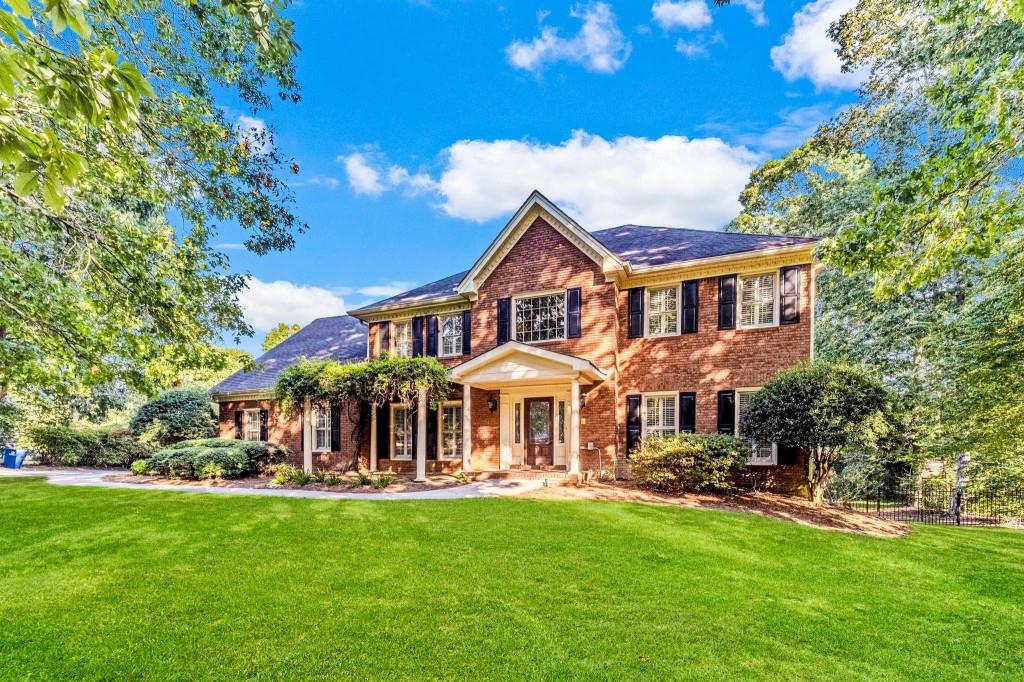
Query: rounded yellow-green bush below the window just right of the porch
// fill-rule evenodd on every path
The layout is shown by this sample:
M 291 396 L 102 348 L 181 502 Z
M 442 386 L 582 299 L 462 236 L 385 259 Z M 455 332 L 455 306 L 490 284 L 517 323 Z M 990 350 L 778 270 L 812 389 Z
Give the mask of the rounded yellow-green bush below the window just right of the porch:
M 750 445 L 718 433 L 644 438 L 631 459 L 642 487 L 666 492 L 722 491 L 743 468 Z

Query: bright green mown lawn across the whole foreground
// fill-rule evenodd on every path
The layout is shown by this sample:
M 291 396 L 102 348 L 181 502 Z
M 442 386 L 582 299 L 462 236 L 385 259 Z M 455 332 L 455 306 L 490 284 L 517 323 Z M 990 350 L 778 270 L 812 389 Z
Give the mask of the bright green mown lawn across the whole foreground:
M 1021 679 L 1024 532 L 0 479 L 0 677 Z

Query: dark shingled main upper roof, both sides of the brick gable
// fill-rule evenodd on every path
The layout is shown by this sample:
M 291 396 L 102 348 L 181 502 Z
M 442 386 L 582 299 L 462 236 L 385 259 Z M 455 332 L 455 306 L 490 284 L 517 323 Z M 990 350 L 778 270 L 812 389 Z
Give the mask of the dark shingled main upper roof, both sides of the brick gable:
M 746 235 L 720 232 L 711 229 L 686 227 L 650 227 L 647 225 L 620 225 L 591 232 L 609 251 L 634 267 L 668 265 L 698 258 L 726 256 L 744 251 L 758 251 L 795 244 L 813 244 L 813 237 L 787 237 L 782 235 Z M 431 282 L 411 291 L 386 298 L 352 312 L 377 308 L 427 303 L 446 298 L 455 293 L 466 272 L 457 272 L 443 280 Z

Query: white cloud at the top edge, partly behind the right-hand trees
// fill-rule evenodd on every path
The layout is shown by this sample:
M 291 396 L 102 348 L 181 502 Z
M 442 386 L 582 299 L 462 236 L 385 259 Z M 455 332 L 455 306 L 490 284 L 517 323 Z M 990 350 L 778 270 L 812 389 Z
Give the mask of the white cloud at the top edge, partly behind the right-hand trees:
M 793 27 L 782 44 L 771 48 L 775 71 L 787 81 L 810 79 L 818 89 L 853 89 L 863 80 L 863 73 L 843 73 L 836 43 L 828 37 L 828 27 L 856 6 L 856 0 L 815 0 L 793 15 Z

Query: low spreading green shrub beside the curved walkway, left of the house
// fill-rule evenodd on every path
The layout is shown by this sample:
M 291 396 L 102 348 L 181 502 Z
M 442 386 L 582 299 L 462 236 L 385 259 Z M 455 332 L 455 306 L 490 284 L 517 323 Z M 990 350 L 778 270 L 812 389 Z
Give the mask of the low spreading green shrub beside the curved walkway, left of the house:
M 132 471 L 162 474 L 172 478 L 243 478 L 258 474 L 280 462 L 288 451 L 272 442 L 204 438 L 185 440 L 164 447 L 132 465 Z

